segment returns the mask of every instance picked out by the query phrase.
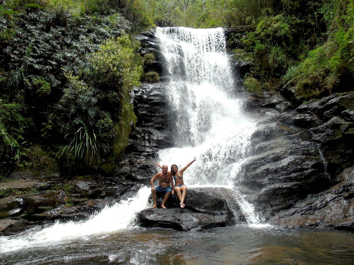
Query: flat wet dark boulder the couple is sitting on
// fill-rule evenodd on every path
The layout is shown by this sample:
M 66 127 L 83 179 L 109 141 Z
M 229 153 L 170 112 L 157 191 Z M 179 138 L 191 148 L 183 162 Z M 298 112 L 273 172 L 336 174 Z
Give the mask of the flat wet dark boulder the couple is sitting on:
M 152 199 L 150 198 L 150 201 Z M 158 199 L 160 207 L 162 198 Z M 166 202 L 167 209 L 146 209 L 137 214 L 144 227 L 170 228 L 180 231 L 202 231 L 245 222 L 245 216 L 232 190 L 226 188 L 189 188 L 181 208 L 177 195 Z

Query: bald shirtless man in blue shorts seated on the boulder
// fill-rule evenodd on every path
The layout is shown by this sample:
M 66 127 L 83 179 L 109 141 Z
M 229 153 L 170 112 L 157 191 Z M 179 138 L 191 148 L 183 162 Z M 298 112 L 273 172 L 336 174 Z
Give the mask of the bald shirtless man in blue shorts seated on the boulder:
M 162 166 L 162 172 L 157 173 L 155 176 L 153 176 L 150 179 L 150 184 L 151 184 L 151 196 L 154 200 L 154 205 L 151 208 L 157 208 L 156 205 L 156 194 L 163 194 L 164 201 L 161 204 L 161 208 L 166 209 L 165 202 L 167 199 L 170 197 L 170 194 L 174 194 L 175 192 L 173 191 L 173 179 L 172 179 L 172 174 L 170 171 L 168 171 L 167 165 Z M 155 179 L 159 179 L 159 186 L 154 187 L 154 181 Z M 170 187 L 170 184 L 172 185 L 172 188 Z

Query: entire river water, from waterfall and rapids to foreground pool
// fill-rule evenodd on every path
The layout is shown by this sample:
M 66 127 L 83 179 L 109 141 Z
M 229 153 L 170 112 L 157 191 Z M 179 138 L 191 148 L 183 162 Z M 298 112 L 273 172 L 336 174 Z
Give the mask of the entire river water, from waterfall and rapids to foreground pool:
M 353 234 L 268 225 L 237 187 L 257 121 L 242 113 L 223 30 L 157 28 L 175 146 L 161 164 L 183 167 L 189 187 L 227 187 L 247 223 L 203 232 L 143 229 L 150 189 L 82 222 L 45 223 L 0 237 L 1 264 L 353 264 Z M 156 169 L 157 170 L 157 169 Z M 188 193 L 187 193 L 188 196 Z

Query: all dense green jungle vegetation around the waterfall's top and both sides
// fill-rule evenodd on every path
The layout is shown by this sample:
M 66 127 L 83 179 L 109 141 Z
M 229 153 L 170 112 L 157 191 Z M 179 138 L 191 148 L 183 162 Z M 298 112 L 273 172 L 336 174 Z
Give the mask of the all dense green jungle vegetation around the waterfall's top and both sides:
M 129 93 L 152 58 L 131 35 L 156 25 L 246 26 L 229 44 L 253 62 L 253 93 L 352 90 L 353 0 L 1 0 L 0 177 L 112 169 L 136 122 Z

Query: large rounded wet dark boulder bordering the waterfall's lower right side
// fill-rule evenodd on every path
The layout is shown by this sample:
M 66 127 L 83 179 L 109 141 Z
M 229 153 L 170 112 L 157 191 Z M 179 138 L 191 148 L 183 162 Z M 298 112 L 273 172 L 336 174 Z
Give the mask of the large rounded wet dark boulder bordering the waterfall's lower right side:
M 329 187 L 324 161 L 315 143 L 284 141 L 283 144 L 247 160 L 239 183 L 257 190 L 249 196 L 250 200 L 268 217 L 308 194 Z

